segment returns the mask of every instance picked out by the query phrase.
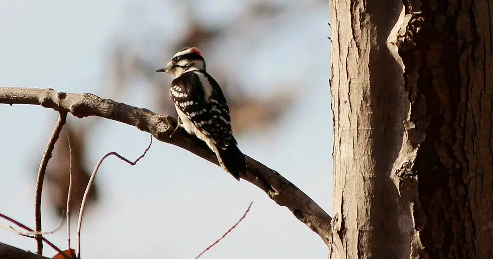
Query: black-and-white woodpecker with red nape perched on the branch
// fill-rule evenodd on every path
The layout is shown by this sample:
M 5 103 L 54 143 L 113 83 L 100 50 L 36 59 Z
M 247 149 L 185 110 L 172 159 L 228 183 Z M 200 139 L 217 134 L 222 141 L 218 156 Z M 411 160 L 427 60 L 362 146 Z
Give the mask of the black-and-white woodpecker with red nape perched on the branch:
M 164 72 L 174 77 L 170 99 L 178 114 L 177 126 L 204 141 L 214 152 L 219 166 L 236 180 L 246 174 L 246 157 L 233 136 L 228 103 L 217 81 L 206 72 L 206 62 L 197 47 L 176 52 Z

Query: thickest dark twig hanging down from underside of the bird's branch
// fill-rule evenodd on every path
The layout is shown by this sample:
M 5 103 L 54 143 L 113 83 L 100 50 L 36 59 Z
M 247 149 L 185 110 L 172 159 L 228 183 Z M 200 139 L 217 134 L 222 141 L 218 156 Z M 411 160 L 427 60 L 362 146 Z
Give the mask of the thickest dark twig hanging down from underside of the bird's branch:
M 48 161 L 51 158 L 51 153 L 53 148 L 55 148 L 55 143 L 58 140 L 58 136 L 60 136 L 60 132 L 62 131 L 62 127 L 65 124 L 67 119 L 67 111 L 61 111 L 58 113 L 58 120 L 55 124 L 55 128 L 51 133 L 50 139 L 48 140 L 48 144 L 46 145 L 46 149 L 44 150 L 43 158 L 41 159 L 41 164 L 39 165 L 39 171 L 37 172 L 37 180 L 36 180 L 36 199 L 35 199 L 35 230 L 36 232 L 41 232 L 41 193 L 43 191 L 43 181 L 44 181 L 44 173 L 46 172 L 46 166 L 48 165 Z M 36 254 L 42 256 L 43 255 L 43 240 L 41 234 L 36 234 Z

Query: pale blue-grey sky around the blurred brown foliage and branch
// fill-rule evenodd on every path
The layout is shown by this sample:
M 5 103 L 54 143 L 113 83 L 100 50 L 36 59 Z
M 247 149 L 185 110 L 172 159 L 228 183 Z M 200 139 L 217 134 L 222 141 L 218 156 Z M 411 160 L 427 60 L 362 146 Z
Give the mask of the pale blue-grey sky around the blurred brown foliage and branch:
M 194 7 L 204 20 L 225 23 L 246 2 L 197 0 Z M 156 28 L 164 32 L 156 38 L 176 37 L 183 24 L 173 6 L 158 0 L 0 0 L 0 86 L 49 87 L 113 99 L 104 90 L 111 41 L 143 44 Z M 282 87 L 296 94 L 278 124 L 242 135 L 239 146 L 332 215 L 328 3 L 319 6 L 297 6 L 267 25 L 249 24 L 242 35 L 217 42 L 214 52 L 205 55 L 230 64 L 227 73 L 241 79 L 248 94 L 261 98 Z M 266 30 L 270 33 L 262 33 Z M 279 83 L 290 81 L 300 83 Z M 153 110 L 149 91 L 136 85 L 114 100 Z M 57 115 L 40 106 L 0 105 L 0 212 L 29 226 L 34 226 L 39 158 Z M 134 127 L 104 120 L 93 129 L 87 160 L 96 165 L 109 151 L 133 160 L 148 138 Z M 250 201 L 246 219 L 202 259 L 327 258 L 323 241 L 288 209 L 181 148 L 155 141 L 133 167 L 110 157 L 97 181 L 101 200 L 84 218 L 82 258 L 193 259 L 243 215 Z M 54 228 L 59 219 L 46 202 L 42 209 L 43 229 Z M 66 248 L 65 227 L 46 238 Z M 0 242 L 35 251 L 33 239 L 1 229 Z M 44 255 L 54 251 L 45 246 Z

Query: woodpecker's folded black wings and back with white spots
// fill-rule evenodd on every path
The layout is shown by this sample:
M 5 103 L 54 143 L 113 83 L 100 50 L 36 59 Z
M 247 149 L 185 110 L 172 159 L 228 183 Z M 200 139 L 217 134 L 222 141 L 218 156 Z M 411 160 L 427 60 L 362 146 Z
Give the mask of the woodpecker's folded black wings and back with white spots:
M 199 70 L 182 74 L 173 80 L 170 98 L 217 147 L 226 149 L 232 142 L 236 144 L 226 98 L 211 75 Z

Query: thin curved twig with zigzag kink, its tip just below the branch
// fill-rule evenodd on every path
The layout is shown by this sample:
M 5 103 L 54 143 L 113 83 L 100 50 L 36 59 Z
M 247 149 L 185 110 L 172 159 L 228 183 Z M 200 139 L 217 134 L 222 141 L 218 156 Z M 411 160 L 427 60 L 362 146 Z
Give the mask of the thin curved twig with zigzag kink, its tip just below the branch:
M 150 136 L 149 146 L 147 146 L 147 148 L 145 148 L 145 150 L 141 154 L 141 156 L 139 156 L 133 162 L 130 161 L 130 160 L 128 160 L 127 158 L 121 156 L 117 152 L 109 152 L 109 153 L 106 153 L 98 161 L 98 164 L 94 168 L 94 171 L 92 172 L 91 177 L 89 178 L 89 182 L 87 183 L 87 187 L 86 187 L 86 189 L 84 191 L 84 195 L 82 196 L 82 202 L 80 203 L 79 218 L 78 218 L 78 222 L 77 222 L 77 240 L 76 240 L 76 243 L 77 243 L 76 244 L 76 255 L 77 255 L 77 258 L 80 258 L 80 228 L 81 228 L 81 225 L 82 225 L 82 217 L 84 216 L 84 208 L 85 208 L 85 204 L 86 204 L 86 198 L 87 198 L 87 195 L 89 194 L 89 191 L 91 191 L 91 187 L 93 185 L 94 178 L 96 177 L 96 173 L 98 172 L 98 169 L 101 166 L 101 163 L 103 163 L 103 161 L 105 160 L 106 157 L 108 157 L 110 155 L 114 155 L 114 156 L 120 158 L 121 160 L 127 162 L 128 164 L 134 166 L 135 164 L 137 164 L 137 162 L 139 162 L 139 160 L 141 160 L 142 157 L 144 157 L 145 153 L 147 153 L 147 151 L 149 150 L 149 148 L 151 148 L 151 145 L 152 145 L 152 135 Z

